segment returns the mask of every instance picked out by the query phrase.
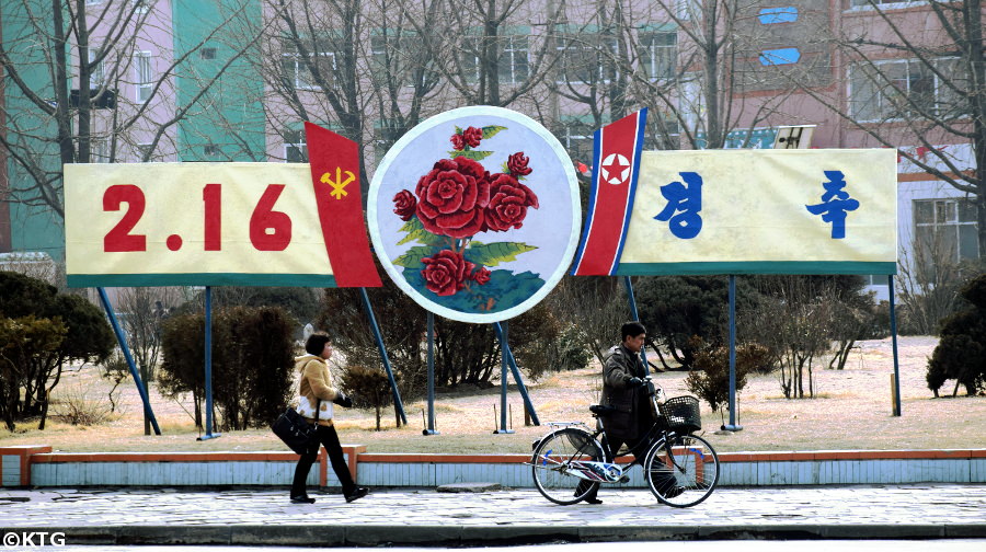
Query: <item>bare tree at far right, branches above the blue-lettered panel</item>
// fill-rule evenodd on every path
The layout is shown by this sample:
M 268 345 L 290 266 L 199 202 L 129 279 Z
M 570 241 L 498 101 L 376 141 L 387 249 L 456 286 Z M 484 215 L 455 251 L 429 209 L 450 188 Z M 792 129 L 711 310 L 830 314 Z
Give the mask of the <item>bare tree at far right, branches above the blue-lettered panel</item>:
M 976 206 L 978 256 L 986 257 L 986 44 L 982 0 L 929 0 L 915 10 L 887 10 L 859 0 L 874 16 L 856 18 L 830 37 L 850 61 L 844 91 L 805 89 L 853 129 Z M 966 165 L 947 143 L 971 143 Z

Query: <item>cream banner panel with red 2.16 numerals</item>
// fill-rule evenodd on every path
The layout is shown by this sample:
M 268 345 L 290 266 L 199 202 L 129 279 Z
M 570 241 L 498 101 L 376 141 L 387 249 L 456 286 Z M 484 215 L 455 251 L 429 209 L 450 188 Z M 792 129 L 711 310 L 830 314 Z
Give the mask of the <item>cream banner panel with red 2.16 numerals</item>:
M 334 286 L 308 164 L 65 165 L 71 286 Z

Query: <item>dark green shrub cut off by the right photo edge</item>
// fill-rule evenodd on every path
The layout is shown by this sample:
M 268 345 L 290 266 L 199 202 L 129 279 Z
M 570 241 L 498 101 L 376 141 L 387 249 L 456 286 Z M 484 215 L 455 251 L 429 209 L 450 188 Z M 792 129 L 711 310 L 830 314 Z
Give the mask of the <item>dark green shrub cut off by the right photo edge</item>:
M 954 379 L 955 388 L 966 393 L 986 390 L 986 273 L 972 278 L 961 289 L 970 308 L 942 321 L 941 341 L 928 361 L 928 388 L 938 396 L 947 380 Z

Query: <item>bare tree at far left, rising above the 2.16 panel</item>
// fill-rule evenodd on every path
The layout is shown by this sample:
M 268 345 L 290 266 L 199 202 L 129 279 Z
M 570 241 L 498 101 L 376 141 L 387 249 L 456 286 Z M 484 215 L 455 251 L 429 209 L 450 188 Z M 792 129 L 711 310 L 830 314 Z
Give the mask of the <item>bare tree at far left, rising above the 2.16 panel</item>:
M 58 218 L 65 216 L 64 164 L 173 156 L 177 123 L 196 112 L 209 88 L 255 42 L 248 37 L 216 74 L 183 73 L 193 54 L 218 35 L 219 27 L 162 62 L 163 70 L 153 71 L 149 58 L 133 55 L 161 34 L 157 32 L 161 13 L 152 4 L 129 0 L 9 3 L 0 65 L 12 100 L 0 104 L 7 125 L 0 146 L 15 169 L 5 200 L 50 209 Z M 245 5 L 241 2 L 236 10 Z M 170 37 L 154 47 L 170 53 Z M 167 101 L 175 95 L 176 77 L 195 83 L 187 103 Z M 137 90 L 139 97 L 127 99 L 124 90 Z

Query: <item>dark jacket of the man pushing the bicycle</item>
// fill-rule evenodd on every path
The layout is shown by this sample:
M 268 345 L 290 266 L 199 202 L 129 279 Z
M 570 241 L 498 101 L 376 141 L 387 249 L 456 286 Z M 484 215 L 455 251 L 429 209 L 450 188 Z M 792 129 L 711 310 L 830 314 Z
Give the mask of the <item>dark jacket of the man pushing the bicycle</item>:
M 606 353 L 603 367 L 601 404 L 616 407 L 604 416 L 606 436 L 612 441 L 632 442 L 649 429 L 652 421 L 646 387 L 634 387 L 630 378 L 644 378 L 647 370 L 638 353 L 623 344 Z

